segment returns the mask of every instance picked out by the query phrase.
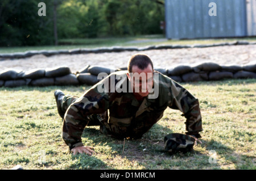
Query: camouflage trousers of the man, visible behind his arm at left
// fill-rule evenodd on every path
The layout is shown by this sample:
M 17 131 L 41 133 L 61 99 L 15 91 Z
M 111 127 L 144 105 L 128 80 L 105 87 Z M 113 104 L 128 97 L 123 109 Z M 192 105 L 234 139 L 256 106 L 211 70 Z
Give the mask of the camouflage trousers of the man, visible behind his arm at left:
M 76 95 L 65 95 L 62 102 L 61 102 L 61 110 L 63 112 L 66 112 L 68 107 L 76 102 L 76 100 L 79 98 L 79 96 Z M 88 125 L 86 126 L 101 126 L 101 132 L 104 134 L 108 134 L 108 131 L 106 131 L 104 124 L 108 123 L 108 111 L 105 111 L 101 114 L 94 114 L 87 116 L 86 119 L 89 120 Z

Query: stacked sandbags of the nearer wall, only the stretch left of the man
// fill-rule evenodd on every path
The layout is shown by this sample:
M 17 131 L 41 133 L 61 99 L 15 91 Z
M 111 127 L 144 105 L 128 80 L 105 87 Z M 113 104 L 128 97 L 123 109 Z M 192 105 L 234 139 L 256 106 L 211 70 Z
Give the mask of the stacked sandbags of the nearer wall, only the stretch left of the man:
M 100 81 L 97 78 L 98 73 L 106 72 L 110 74 L 110 71 L 117 70 L 110 70 L 99 66 L 86 66 L 77 73 L 71 73 L 68 67 L 32 69 L 28 71 L 6 69 L 0 71 L 0 87 L 94 85 Z

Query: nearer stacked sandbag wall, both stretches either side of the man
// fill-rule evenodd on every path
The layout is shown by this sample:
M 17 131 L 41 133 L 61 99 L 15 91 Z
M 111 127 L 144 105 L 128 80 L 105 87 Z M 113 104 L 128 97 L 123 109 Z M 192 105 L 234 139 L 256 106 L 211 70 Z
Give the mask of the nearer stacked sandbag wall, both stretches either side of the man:
M 76 73 L 72 73 L 68 67 L 28 71 L 6 69 L 0 71 L 0 87 L 94 85 L 100 81 L 100 79 L 97 79 L 99 73 L 110 74 L 119 70 L 127 70 L 127 68 L 113 70 L 101 66 L 87 65 Z M 193 66 L 176 65 L 169 69 L 155 68 L 155 70 L 176 82 L 256 78 L 256 64 L 221 66 L 213 62 L 204 62 Z

